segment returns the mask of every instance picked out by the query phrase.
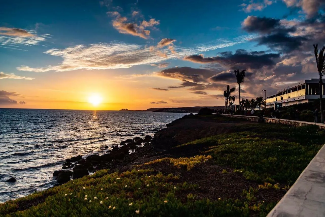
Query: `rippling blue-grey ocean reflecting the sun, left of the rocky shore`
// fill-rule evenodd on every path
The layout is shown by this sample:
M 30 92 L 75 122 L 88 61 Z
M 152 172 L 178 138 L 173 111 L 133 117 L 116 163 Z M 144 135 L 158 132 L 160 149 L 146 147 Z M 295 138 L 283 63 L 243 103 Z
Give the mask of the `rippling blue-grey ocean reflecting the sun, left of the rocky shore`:
M 106 145 L 150 135 L 183 113 L 0 109 L 0 202 L 56 184 L 66 158 L 104 153 Z M 144 137 L 144 136 L 143 136 Z M 62 148 L 65 146 L 66 148 Z M 16 183 L 8 183 L 15 177 Z

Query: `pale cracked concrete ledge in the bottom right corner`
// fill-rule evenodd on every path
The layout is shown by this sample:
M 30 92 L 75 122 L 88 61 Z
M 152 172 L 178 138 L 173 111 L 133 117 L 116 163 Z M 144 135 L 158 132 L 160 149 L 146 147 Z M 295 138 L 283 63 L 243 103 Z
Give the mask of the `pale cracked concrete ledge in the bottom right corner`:
M 325 145 L 267 217 L 325 216 Z

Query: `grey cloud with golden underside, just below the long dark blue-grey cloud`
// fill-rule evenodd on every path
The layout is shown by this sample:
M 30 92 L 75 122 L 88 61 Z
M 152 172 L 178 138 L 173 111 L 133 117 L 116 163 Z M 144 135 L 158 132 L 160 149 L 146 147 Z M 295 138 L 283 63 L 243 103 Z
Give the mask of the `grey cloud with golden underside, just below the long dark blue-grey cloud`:
M 209 77 L 215 75 L 215 72 L 208 69 L 195 69 L 191 67 L 175 67 L 164 69 L 158 73 L 158 76 L 175 78 L 179 80 L 192 80 L 193 82 L 204 82 Z

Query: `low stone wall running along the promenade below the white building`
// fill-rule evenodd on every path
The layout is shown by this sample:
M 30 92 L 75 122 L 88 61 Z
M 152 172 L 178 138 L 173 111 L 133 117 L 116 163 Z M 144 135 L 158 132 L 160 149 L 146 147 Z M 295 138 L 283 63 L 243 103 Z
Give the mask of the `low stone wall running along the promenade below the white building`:
M 259 118 L 257 116 L 247 116 L 247 115 L 226 115 L 226 114 L 221 114 L 221 115 L 227 116 L 227 117 L 241 118 L 241 119 L 255 121 L 255 122 L 257 122 L 257 120 Z M 269 117 L 265 117 L 264 121 L 266 123 L 286 124 L 286 125 L 296 126 L 296 127 L 306 126 L 306 125 L 317 125 L 318 128 L 325 129 L 325 124 L 307 122 L 307 121 L 295 121 L 295 120 L 286 120 L 286 119 L 269 118 Z

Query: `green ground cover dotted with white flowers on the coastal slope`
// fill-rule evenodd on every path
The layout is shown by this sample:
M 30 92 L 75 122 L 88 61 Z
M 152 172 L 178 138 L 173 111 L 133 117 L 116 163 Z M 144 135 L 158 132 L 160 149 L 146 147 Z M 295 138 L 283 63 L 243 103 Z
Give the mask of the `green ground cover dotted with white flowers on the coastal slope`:
M 325 133 L 315 126 L 235 128 L 236 133 L 174 148 L 186 153 L 190 146 L 201 147 L 200 155 L 158 158 L 122 173 L 100 170 L 0 204 L 0 216 L 266 216 L 325 143 Z M 165 164 L 171 165 L 171 172 L 155 167 Z M 188 183 L 184 175 L 200 173 L 204 166 L 218 166 L 220 171 L 211 174 L 246 185 L 215 186 L 240 191 L 238 196 L 215 198 L 198 184 L 207 179 L 213 185 L 212 176 Z

